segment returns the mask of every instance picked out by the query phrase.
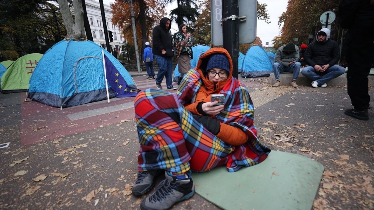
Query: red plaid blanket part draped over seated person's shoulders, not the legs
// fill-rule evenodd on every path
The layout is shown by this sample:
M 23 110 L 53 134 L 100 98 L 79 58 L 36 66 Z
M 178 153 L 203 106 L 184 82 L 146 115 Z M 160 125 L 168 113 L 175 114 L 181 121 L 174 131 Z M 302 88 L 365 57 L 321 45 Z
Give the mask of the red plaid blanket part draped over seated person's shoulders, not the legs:
M 181 82 L 177 95 L 184 105 L 193 103 L 197 91 L 202 86 L 202 75 L 198 71 L 189 71 Z M 257 128 L 254 126 L 254 106 L 245 86 L 232 77 L 223 87 L 220 94 L 225 95 L 225 109 L 214 118 L 222 123 L 236 126 L 249 135 L 246 143 L 235 146 L 226 163 L 227 170 L 234 172 L 241 167 L 253 166 L 266 159 L 270 149 L 257 139 Z

